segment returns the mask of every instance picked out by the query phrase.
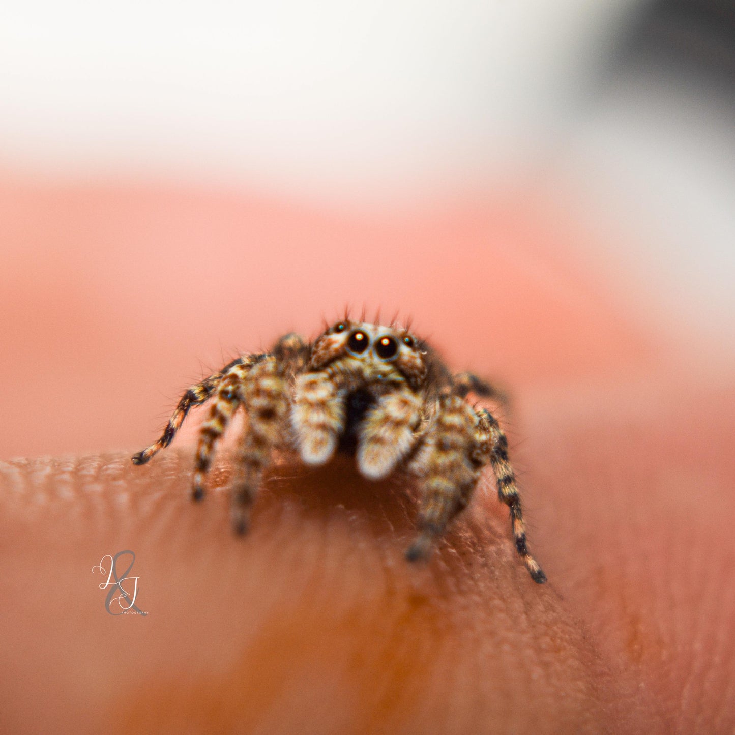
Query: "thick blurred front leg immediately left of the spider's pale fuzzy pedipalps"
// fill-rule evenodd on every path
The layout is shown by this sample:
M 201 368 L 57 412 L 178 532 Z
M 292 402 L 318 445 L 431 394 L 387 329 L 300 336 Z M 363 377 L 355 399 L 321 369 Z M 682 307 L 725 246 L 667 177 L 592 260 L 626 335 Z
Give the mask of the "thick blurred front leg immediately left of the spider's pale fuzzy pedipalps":
M 270 465 L 273 449 L 282 443 L 288 419 L 289 384 L 280 374 L 275 359 L 253 368 L 241 394 L 248 410 L 248 429 L 235 460 L 232 482 L 232 528 L 238 534 L 248 530 L 250 507 Z

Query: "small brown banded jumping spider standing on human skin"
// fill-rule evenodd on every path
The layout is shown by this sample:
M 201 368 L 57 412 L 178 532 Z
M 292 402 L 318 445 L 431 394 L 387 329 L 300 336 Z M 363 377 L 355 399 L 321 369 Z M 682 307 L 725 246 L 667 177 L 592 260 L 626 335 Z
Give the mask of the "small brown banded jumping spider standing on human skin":
M 470 392 L 492 395 L 472 373 L 452 373 L 408 329 L 344 319 L 313 343 L 281 337 L 270 352 L 238 357 L 184 393 L 162 437 L 132 460 L 144 465 L 167 447 L 192 406 L 212 398 L 201 427 L 193 498 L 204 497 L 204 478 L 215 443 L 239 406 L 248 415 L 232 487 L 232 524 L 248 528 L 248 515 L 273 450 L 293 448 L 306 465 L 323 465 L 336 451 L 354 453 L 363 476 L 379 480 L 397 467 L 422 484 L 420 533 L 406 551 L 426 557 L 432 542 L 467 506 L 488 462 L 498 495 L 509 507 L 515 545 L 534 581 L 546 577 L 526 547 L 526 531 L 508 441 L 487 409 L 467 402 Z

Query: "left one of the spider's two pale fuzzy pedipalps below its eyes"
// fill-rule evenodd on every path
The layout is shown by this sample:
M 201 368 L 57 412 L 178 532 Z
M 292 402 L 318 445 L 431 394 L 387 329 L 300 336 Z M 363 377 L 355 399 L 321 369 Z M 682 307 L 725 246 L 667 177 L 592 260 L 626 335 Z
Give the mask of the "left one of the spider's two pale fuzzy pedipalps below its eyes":
M 345 426 L 343 390 L 329 373 L 296 377 L 291 424 L 301 459 L 307 465 L 328 462 Z

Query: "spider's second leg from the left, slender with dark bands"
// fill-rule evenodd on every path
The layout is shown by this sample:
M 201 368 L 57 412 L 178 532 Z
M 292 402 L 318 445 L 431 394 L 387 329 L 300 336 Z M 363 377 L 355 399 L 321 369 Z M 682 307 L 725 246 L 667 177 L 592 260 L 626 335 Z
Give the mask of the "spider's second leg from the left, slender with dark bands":
M 257 362 L 262 359 L 257 356 Z M 256 359 L 247 363 L 232 365 L 224 374 L 217 387 L 209 418 L 201 425 L 199 442 L 196 450 L 196 465 L 194 467 L 194 482 L 192 498 L 201 501 L 204 498 L 204 476 L 212 464 L 212 453 L 217 440 L 222 436 L 235 409 L 240 405 L 240 387 L 247 379 Z

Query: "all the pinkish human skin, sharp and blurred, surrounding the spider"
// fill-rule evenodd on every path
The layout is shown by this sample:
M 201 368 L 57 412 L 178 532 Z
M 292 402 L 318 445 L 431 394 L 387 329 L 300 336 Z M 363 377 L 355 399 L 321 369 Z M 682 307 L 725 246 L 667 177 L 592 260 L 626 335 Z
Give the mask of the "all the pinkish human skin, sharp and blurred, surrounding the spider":
M 46 456 L 0 464 L 2 730 L 735 727 L 735 386 L 684 368 L 527 193 L 368 218 L 6 180 L 0 209 L 1 456 Z M 406 478 L 277 465 L 234 539 L 226 451 L 187 499 L 201 411 L 129 463 L 207 368 L 363 303 L 512 392 L 544 587 L 490 476 L 415 566 Z M 92 572 L 127 548 L 145 617 L 107 614 Z

